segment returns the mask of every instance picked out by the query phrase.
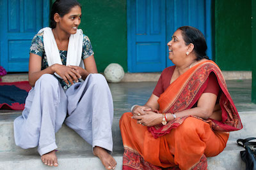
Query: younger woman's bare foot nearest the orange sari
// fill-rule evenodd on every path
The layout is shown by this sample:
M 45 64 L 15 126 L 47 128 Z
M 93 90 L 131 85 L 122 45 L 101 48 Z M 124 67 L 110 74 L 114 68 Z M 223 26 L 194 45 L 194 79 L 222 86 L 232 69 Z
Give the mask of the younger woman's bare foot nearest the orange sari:
M 99 146 L 95 146 L 93 148 L 93 154 L 99 157 L 106 169 L 115 169 L 116 160 L 107 152 L 107 150 L 100 148 Z

